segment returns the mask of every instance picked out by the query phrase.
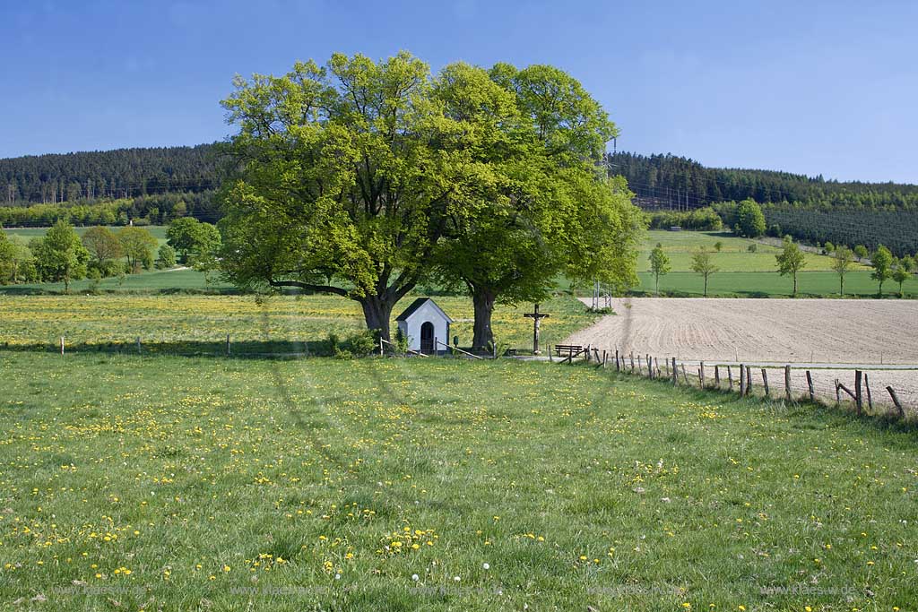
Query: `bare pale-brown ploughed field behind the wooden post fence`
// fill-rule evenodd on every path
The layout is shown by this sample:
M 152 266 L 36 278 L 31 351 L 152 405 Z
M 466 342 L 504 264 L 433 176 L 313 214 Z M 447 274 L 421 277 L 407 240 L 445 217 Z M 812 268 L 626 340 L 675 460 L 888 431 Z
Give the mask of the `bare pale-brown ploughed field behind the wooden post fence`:
M 616 315 L 565 342 L 650 354 L 661 365 L 672 357 L 711 364 L 832 364 L 806 366 L 817 395 L 831 400 L 836 378 L 853 387 L 854 373 L 844 364 L 880 368 L 868 372 L 874 401 L 889 404 L 885 387 L 891 385 L 904 404 L 918 408 L 918 370 L 881 369 L 882 364 L 918 367 L 918 301 L 648 297 L 616 299 L 612 308 Z M 760 386 L 760 369 L 754 373 Z M 783 389 L 782 371 L 769 370 L 768 376 L 773 389 Z M 803 369 L 793 372 L 791 386 L 806 392 Z

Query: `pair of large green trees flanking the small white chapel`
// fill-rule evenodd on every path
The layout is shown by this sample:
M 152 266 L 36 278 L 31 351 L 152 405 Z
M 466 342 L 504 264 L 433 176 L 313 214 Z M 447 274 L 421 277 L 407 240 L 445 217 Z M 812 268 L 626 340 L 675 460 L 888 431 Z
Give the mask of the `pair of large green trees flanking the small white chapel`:
M 637 282 L 644 218 L 601 163 L 618 130 L 554 67 L 335 54 L 239 78 L 223 105 L 220 266 L 242 287 L 353 299 L 383 339 L 421 281 L 462 287 L 484 349 L 495 304 L 539 301 L 558 274 Z

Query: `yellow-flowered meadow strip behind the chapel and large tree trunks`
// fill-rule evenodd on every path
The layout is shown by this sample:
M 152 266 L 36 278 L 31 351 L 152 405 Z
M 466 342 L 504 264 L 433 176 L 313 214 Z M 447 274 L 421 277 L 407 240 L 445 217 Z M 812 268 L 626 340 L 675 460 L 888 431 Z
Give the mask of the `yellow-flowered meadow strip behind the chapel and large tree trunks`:
M 183 273 L 159 274 L 172 280 Z M 393 317 L 415 297 L 409 295 L 399 302 Z M 470 345 L 472 301 L 450 295 L 434 299 L 455 319 L 451 335 L 459 336 L 460 346 Z M 496 307 L 492 323 L 498 345 L 532 350 L 532 319 L 522 316 L 531 308 Z M 551 314 L 542 323 L 544 346 L 596 320 L 569 295 L 545 301 L 542 311 Z M 0 320 L 0 346 L 40 345 L 48 350 L 63 336 L 71 350 L 109 350 L 114 344 L 114 348 L 134 351 L 135 339 L 140 337 L 145 351 L 223 352 L 229 334 L 238 352 L 305 351 L 304 343 L 318 351 L 315 345 L 330 332 L 343 337 L 364 329 L 360 306 L 335 295 L 264 300 L 252 295 L 0 295 Z

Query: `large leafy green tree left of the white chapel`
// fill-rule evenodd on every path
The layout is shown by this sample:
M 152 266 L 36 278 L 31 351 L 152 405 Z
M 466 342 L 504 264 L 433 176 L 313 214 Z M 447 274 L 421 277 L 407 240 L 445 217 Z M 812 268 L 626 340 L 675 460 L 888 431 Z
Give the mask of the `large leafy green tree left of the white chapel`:
M 335 54 L 235 84 L 223 270 L 242 286 L 349 297 L 388 339 L 473 171 L 450 146 L 462 127 L 431 98 L 428 66 Z

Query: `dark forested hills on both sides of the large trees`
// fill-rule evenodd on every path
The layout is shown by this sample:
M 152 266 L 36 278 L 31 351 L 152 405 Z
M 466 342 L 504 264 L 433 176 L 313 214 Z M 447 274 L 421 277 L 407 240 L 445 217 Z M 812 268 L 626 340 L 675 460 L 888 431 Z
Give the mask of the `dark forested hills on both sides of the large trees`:
M 795 207 L 918 210 L 918 185 L 840 183 L 789 172 L 706 168 L 674 155 L 608 156 L 644 207 L 696 208 L 747 197 Z M 218 185 L 212 144 L 117 149 L 0 160 L 0 204 L 86 203 L 145 195 L 201 194 Z

